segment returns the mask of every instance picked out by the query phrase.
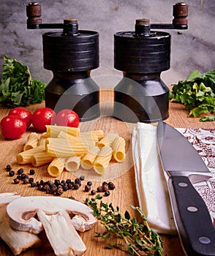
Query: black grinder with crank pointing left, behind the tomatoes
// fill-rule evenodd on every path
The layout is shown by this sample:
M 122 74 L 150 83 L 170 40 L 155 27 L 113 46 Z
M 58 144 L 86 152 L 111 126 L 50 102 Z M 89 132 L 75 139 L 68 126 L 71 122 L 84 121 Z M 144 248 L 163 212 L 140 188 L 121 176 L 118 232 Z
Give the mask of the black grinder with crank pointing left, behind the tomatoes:
M 90 76 L 99 67 L 99 34 L 78 30 L 78 20 L 42 23 L 41 6 L 26 7 L 27 29 L 60 29 L 42 34 L 44 68 L 53 72 L 45 88 L 45 106 L 59 112 L 75 110 L 80 121 L 99 117 L 99 86 Z

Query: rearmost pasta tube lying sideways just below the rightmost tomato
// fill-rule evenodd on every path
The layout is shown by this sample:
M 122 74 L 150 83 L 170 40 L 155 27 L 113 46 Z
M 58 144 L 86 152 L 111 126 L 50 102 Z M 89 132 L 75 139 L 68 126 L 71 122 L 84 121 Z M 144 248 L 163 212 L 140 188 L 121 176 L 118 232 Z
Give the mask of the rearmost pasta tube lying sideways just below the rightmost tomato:
M 46 125 L 45 137 L 57 138 L 61 131 L 66 132 L 68 135 L 77 137 L 80 129 L 76 127 L 61 127 L 58 125 Z

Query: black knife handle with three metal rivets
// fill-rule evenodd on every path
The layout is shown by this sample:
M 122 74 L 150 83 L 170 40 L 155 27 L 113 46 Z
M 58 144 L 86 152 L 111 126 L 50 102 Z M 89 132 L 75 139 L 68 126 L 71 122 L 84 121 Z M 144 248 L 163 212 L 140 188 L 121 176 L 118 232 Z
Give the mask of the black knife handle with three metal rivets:
M 168 180 L 173 213 L 187 255 L 215 255 L 215 227 L 208 208 L 186 176 Z

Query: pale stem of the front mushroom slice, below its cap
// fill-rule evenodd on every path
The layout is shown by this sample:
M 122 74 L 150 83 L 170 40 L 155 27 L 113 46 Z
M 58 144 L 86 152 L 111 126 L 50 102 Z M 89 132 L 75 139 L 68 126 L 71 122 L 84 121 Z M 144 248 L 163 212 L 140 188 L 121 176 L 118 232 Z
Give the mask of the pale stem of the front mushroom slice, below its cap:
M 38 210 L 37 216 L 42 222 L 55 255 L 78 256 L 86 251 L 86 246 L 72 225 L 66 211 L 45 214 L 45 211 Z

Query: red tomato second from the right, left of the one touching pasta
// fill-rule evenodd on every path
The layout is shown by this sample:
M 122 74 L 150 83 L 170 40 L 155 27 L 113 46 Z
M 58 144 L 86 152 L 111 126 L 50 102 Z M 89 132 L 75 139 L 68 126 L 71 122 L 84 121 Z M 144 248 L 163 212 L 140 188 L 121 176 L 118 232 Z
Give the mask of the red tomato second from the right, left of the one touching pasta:
M 55 117 L 56 113 L 51 108 L 37 108 L 32 115 L 31 121 L 36 129 L 40 132 L 45 132 L 45 126 L 53 124 Z

